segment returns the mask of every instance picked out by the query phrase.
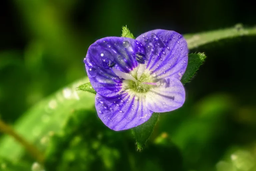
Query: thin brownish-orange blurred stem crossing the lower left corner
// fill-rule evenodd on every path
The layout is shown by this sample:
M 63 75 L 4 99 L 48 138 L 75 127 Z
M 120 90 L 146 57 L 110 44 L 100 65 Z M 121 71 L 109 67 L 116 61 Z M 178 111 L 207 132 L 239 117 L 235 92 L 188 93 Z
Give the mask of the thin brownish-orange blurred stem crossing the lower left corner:
M 0 119 L 0 132 L 8 134 L 12 136 L 17 142 L 25 147 L 25 149 L 33 156 L 39 163 L 43 163 L 44 155 L 32 144 L 27 142 L 24 138 L 22 138 L 19 134 L 12 129 L 11 126 L 7 125 Z

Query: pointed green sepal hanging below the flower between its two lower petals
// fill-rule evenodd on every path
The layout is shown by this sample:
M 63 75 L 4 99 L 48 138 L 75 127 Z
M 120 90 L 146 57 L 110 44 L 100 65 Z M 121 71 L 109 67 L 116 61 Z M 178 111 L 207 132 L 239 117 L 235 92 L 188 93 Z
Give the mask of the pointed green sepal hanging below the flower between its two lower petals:
M 145 146 L 147 140 L 149 139 L 150 135 L 154 130 L 158 118 L 159 113 L 153 113 L 147 122 L 131 129 L 132 134 L 136 139 L 138 150 L 141 150 Z

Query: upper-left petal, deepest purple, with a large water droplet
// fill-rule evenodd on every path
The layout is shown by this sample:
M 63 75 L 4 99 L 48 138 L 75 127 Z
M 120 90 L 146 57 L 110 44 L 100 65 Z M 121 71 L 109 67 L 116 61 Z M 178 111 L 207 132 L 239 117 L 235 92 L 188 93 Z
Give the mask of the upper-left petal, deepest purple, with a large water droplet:
M 136 53 L 145 53 L 142 44 L 131 38 L 105 37 L 93 43 L 84 59 L 92 87 L 102 96 L 115 96 L 121 90 L 122 78 L 111 67 L 129 73 L 138 63 Z

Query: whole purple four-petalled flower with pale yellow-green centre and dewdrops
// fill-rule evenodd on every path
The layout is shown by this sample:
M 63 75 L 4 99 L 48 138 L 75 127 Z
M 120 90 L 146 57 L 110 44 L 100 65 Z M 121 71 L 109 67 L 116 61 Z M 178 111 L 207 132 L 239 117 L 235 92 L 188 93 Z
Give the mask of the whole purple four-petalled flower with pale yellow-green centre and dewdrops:
M 99 118 L 110 129 L 120 131 L 146 122 L 153 112 L 181 107 L 185 90 L 180 79 L 187 61 L 186 40 L 174 31 L 97 40 L 84 62 L 97 92 Z

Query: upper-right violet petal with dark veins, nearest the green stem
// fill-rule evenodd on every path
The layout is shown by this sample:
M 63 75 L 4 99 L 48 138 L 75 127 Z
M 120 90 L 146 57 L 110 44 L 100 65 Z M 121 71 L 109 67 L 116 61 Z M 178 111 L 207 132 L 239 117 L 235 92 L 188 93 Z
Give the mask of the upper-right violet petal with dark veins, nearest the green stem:
M 136 40 L 145 47 L 147 69 L 157 78 L 176 77 L 184 74 L 188 62 L 186 40 L 175 31 L 152 30 Z

